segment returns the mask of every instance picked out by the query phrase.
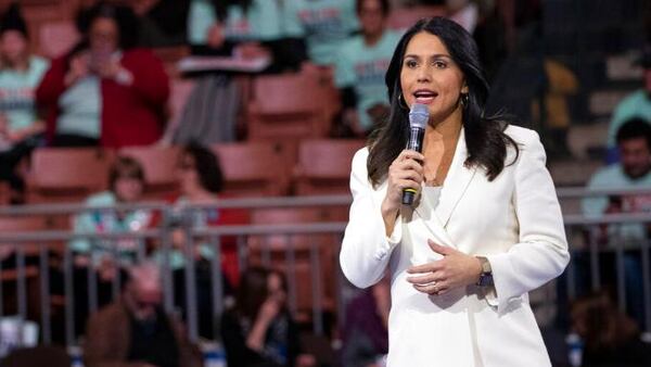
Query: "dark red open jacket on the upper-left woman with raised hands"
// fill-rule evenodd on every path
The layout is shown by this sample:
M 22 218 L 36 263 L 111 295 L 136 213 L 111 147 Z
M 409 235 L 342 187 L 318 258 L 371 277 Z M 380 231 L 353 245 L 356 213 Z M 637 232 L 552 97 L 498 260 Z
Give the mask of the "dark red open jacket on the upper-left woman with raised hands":
M 122 65 L 133 75 L 133 84 L 124 86 L 102 79 L 102 147 L 120 148 L 156 142 L 164 130 L 164 113 L 169 83 L 163 63 L 149 50 L 123 51 Z M 68 56 L 52 62 L 36 91 L 37 103 L 48 111 L 48 137 L 56 131 L 59 99 L 65 91 Z

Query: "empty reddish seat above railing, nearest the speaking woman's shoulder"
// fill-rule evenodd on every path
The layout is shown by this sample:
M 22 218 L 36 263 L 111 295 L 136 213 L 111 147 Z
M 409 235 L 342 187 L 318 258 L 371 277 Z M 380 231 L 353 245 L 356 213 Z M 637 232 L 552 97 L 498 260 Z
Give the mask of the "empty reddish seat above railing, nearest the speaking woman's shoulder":
M 298 147 L 298 164 L 294 172 L 299 195 L 349 193 L 353 155 L 365 145 L 363 140 L 303 140 Z

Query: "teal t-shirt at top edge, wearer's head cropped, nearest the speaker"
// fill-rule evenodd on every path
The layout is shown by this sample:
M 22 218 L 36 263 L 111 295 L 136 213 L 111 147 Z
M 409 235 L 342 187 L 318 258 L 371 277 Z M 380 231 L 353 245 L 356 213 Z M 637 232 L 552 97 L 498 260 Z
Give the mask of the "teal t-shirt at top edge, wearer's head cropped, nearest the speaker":
M 334 64 L 342 43 L 359 28 L 355 1 L 284 0 L 286 37 L 305 38 L 309 59 L 319 65 Z

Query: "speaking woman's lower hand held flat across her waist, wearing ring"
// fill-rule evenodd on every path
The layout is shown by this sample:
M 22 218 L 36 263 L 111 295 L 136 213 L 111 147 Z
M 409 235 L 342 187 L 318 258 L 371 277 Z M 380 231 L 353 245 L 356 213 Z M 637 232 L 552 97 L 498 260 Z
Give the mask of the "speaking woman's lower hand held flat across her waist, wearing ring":
M 418 291 L 441 295 L 449 290 L 468 284 L 473 284 L 482 274 L 480 260 L 427 240 L 427 244 L 442 260 L 432 263 L 412 266 L 407 269 L 411 277 L 407 281 L 413 284 Z

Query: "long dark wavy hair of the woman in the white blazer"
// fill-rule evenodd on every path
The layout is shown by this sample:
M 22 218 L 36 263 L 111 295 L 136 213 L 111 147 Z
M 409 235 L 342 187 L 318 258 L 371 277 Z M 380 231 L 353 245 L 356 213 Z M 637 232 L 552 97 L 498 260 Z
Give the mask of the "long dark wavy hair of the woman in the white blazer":
M 503 169 L 507 147 L 515 150 L 515 160 L 520 151 L 513 139 L 505 134 L 509 125 L 506 116 L 484 115 L 484 105 L 488 97 L 488 83 L 484 77 L 477 46 L 472 36 L 457 23 L 444 17 L 424 18 L 405 33 L 394 51 L 386 71 L 385 83 L 388 89 L 391 113 L 369 138 L 369 160 L 367 168 L 373 186 L 380 185 L 386 177 L 388 166 L 400 154 L 409 139 L 409 114 L 400 106 L 400 71 L 405 50 L 411 38 L 421 31 L 437 36 L 445 45 L 465 78 L 468 100 L 463 103 L 462 124 L 468 145 L 467 167 L 483 167 L 488 180 L 494 180 Z

